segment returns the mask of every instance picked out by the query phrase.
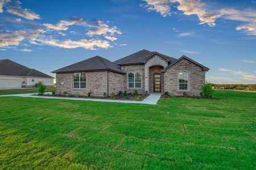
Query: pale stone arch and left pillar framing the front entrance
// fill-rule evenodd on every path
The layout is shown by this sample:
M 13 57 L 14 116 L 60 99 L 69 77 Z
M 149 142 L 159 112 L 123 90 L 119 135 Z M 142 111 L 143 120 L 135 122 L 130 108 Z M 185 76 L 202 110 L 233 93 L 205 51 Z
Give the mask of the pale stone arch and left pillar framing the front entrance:
M 149 68 L 151 66 L 162 66 L 162 67 L 167 67 L 168 65 L 168 62 L 166 61 L 166 59 L 158 56 L 158 55 L 155 55 L 155 56 L 152 56 L 151 58 L 149 58 L 147 60 L 147 62 L 145 63 L 144 65 L 144 70 L 145 70 L 145 75 L 144 77 L 148 78 L 147 80 L 145 80 L 145 91 L 150 91 L 150 88 L 149 88 Z

